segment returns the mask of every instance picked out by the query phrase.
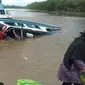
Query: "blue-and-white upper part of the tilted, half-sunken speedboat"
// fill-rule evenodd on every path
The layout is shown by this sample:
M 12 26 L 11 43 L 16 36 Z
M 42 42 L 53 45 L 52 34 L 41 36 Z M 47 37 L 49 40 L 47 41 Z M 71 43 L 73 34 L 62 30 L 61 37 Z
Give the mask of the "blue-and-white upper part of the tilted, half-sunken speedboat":
M 0 18 L 0 22 L 3 22 L 5 25 L 23 27 L 23 29 L 25 29 L 27 32 L 34 35 L 53 34 L 61 29 L 60 27 L 56 26 L 50 26 L 31 21 L 16 20 L 12 18 Z

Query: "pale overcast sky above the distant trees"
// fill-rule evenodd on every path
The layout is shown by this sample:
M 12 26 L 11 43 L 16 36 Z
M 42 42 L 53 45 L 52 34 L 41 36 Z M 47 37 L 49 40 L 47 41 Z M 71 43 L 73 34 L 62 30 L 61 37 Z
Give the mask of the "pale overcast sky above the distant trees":
M 41 1 L 46 1 L 46 0 L 2 0 L 2 3 L 4 5 L 27 5 L 32 2 L 41 2 Z

